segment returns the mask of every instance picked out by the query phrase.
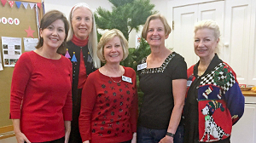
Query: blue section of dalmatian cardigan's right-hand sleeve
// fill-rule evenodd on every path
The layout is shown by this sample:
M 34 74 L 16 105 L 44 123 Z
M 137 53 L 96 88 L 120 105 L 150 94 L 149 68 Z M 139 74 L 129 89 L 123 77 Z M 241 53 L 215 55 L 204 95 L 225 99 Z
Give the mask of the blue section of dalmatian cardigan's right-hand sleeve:
M 231 81 L 236 81 L 236 78 L 231 75 Z M 243 115 L 245 99 L 243 94 L 241 94 L 241 89 L 239 84 L 235 82 L 224 94 L 225 102 L 228 109 L 230 110 L 230 115 L 232 117 L 232 124 L 234 125 Z

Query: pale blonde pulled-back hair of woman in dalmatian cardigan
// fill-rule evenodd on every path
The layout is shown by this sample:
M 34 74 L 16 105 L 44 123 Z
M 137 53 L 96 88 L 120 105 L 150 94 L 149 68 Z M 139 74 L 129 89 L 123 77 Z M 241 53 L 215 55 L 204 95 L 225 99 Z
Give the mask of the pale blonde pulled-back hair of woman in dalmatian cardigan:
M 219 39 L 220 37 L 220 31 L 218 27 L 218 23 L 214 20 L 201 20 L 195 24 L 194 33 L 200 29 L 208 28 L 213 31 L 213 36 L 215 37 L 215 40 Z M 220 39 L 219 39 L 220 40 Z M 215 49 L 216 53 L 219 53 L 219 48 L 221 47 L 220 42 L 218 41 L 218 45 Z

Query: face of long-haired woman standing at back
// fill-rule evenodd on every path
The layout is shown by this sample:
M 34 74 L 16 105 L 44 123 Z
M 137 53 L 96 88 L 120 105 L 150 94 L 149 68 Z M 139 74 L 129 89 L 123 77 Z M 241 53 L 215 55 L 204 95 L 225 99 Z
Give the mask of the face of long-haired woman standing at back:
M 79 39 L 86 39 L 92 29 L 92 14 L 84 7 L 75 9 L 72 17 L 73 34 Z

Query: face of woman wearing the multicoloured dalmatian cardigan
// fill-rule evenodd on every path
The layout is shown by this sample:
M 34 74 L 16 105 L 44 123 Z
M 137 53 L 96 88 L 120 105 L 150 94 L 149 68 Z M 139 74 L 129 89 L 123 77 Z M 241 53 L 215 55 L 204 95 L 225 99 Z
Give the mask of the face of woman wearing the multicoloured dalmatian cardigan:
M 214 31 L 209 28 L 199 29 L 195 32 L 195 54 L 200 58 L 212 58 L 218 46 L 219 39 L 214 37 Z

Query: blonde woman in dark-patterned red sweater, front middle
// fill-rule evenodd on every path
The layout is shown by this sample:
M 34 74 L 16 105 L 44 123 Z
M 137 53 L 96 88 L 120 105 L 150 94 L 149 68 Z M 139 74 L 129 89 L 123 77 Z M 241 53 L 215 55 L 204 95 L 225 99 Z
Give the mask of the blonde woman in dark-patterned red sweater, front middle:
M 137 80 L 130 67 L 120 66 L 128 55 L 123 33 L 103 34 L 97 54 L 104 66 L 92 72 L 82 91 L 79 130 L 84 143 L 136 142 Z

